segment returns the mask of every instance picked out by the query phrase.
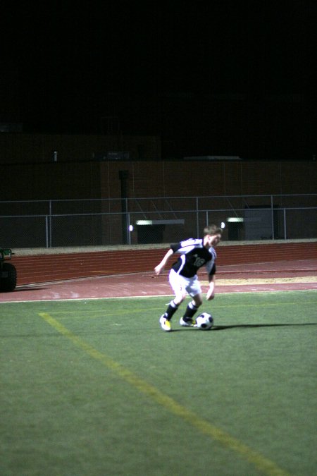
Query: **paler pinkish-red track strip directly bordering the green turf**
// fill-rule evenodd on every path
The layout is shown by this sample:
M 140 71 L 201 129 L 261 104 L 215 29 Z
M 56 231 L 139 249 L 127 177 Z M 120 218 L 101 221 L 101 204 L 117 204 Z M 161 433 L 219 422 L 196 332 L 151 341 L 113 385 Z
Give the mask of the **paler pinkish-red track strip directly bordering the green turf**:
M 201 281 L 206 279 L 203 272 L 199 277 Z M 240 279 L 246 281 L 238 284 Z M 270 282 L 259 283 L 260 279 L 269 279 Z M 317 260 L 218 266 L 216 280 L 216 293 L 317 290 Z M 236 282 L 232 283 L 232 280 Z M 203 291 L 206 291 L 206 286 L 203 286 Z M 161 276 L 147 271 L 25 284 L 18 286 L 13 293 L 1 293 L 0 303 L 151 295 L 171 295 L 167 272 Z

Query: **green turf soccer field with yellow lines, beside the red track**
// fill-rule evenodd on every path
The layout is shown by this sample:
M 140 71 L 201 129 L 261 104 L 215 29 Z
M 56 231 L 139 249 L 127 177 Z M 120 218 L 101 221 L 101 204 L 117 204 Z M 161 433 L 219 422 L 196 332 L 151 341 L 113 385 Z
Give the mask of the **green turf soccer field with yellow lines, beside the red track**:
M 317 293 L 0 304 L 3 476 L 317 475 Z

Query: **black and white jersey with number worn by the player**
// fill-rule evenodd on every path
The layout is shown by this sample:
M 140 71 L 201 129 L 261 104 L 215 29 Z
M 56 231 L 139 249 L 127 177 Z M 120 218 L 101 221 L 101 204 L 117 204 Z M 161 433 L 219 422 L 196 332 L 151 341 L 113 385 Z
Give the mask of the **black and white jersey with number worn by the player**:
M 216 273 L 216 251 L 214 248 L 205 248 L 204 240 L 189 238 L 189 240 L 180 241 L 170 245 L 173 252 L 180 253 L 177 262 L 172 269 L 186 278 L 192 278 L 202 266 L 210 276 Z

